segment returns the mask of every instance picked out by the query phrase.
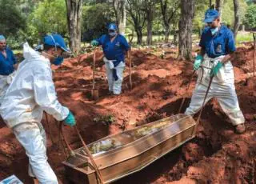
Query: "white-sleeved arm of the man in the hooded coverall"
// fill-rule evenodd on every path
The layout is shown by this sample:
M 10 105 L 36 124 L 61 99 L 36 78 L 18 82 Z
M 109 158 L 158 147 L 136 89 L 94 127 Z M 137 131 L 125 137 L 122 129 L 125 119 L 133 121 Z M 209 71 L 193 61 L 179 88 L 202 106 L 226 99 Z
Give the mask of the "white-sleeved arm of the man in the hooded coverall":
M 34 98 L 47 114 L 58 121 L 66 119 L 70 110 L 58 102 L 50 69 L 38 68 L 34 72 Z

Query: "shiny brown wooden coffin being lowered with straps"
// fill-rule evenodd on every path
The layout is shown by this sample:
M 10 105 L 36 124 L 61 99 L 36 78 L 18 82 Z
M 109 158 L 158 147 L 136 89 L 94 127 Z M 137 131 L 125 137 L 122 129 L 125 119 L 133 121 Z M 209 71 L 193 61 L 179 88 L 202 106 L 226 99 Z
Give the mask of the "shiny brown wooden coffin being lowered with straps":
M 177 114 L 138 126 L 90 143 L 88 148 L 102 174 L 104 183 L 114 182 L 142 170 L 158 158 L 194 138 L 196 122 L 186 114 Z M 84 148 L 63 162 L 67 177 L 74 183 L 97 183 Z

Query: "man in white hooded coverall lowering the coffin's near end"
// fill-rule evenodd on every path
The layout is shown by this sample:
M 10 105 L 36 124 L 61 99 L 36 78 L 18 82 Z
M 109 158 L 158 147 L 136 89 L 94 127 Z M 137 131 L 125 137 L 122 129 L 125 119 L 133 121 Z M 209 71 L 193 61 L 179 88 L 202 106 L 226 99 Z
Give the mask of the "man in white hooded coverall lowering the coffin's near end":
M 46 134 L 41 120 L 43 111 L 68 126 L 75 125 L 74 115 L 58 102 L 50 64 L 60 65 L 62 54 L 69 51 L 59 34 L 44 38 L 38 53 L 28 43 L 23 45 L 25 60 L 3 98 L 0 114 L 26 150 L 29 175 L 39 183 L 55 184 L 58 179 L 47 162 Z

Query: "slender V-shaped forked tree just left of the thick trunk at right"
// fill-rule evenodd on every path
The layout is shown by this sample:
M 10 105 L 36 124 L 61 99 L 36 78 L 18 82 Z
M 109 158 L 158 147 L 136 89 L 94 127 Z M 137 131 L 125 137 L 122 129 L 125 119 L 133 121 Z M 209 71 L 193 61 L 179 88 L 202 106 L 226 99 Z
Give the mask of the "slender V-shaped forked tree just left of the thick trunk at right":
M 178 13 L 179 0 L 159 0 L 162 13 L 162 21 L 165 26 L 165 42 L 170 35 L 170 24 Z

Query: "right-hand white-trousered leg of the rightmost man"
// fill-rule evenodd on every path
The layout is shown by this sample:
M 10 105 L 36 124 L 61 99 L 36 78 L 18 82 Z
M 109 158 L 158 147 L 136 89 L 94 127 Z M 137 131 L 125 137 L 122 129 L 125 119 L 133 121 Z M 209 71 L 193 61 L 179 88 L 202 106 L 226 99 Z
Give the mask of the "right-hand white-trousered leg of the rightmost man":
M 234 126 L 245 122 L 245 118 L 239 107 L 234 83 L 219 85 L 218 89 L 216 89 L 215 97 Z

